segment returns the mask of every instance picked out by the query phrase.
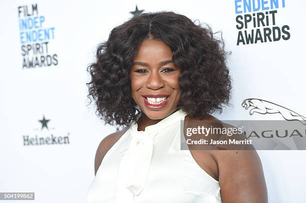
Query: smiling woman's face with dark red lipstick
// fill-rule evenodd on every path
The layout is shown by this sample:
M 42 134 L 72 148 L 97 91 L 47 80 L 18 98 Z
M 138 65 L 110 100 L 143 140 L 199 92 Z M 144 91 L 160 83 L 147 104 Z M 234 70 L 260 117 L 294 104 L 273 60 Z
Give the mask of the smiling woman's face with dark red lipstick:
M 179 104 L 180 70 L 171 49 L 161 40 L 143 40 L 130 70 L 131 95 L 150 119 L 163 119 Z

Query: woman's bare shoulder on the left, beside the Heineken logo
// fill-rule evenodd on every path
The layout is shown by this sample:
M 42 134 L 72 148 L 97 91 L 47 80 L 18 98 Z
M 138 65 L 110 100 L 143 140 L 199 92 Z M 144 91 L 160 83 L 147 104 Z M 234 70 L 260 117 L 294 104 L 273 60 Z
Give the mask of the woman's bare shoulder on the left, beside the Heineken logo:
M 105 154 L 108 150 L 120 139 L 120 137 L 127 131 L 128 127 L 107 135 L 98 145 L 94 158 L 94 174 L 96 174 Z

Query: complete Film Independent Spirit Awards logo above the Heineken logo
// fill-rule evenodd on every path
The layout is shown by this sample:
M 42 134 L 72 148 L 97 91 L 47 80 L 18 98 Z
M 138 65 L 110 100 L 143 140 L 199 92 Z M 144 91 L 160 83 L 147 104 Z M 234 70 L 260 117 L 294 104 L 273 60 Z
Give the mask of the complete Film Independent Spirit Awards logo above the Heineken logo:
M 22 69 L 57 66 L 58 56 L 51 47 L 55 27 L 48 25 L 48 18 L 40 13 L 37 3 L 17 8 Z

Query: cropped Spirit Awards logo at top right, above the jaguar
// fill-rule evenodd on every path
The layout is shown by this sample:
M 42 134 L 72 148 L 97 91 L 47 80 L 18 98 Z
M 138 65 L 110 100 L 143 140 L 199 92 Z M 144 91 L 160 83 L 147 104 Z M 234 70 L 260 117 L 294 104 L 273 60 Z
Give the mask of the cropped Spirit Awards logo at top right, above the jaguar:
M 290 39 L 290 26 L 279 17 L 287 6 L 287 0 L 234 0 L 233 3 L 236 45 Z

